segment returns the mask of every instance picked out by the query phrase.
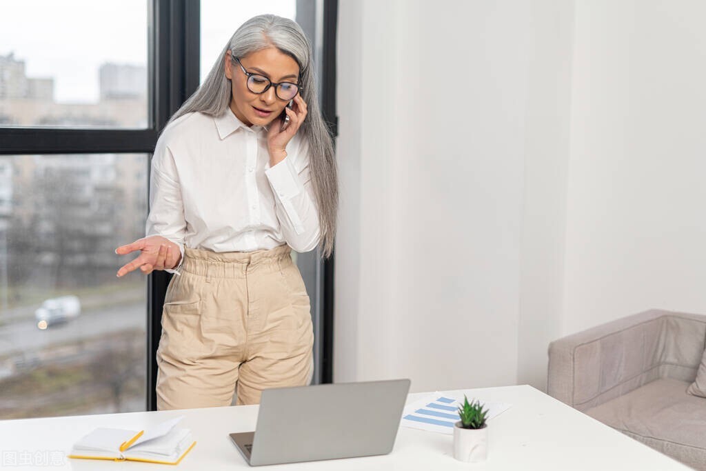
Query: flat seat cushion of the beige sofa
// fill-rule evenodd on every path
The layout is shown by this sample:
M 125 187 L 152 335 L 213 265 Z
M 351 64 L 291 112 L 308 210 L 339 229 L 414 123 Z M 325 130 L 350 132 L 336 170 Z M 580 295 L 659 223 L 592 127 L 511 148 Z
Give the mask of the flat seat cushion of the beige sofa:
M 706 399 L 690 382 L 663 378 L 585 411 L 594 419 L 699 470 L 706 470 Z

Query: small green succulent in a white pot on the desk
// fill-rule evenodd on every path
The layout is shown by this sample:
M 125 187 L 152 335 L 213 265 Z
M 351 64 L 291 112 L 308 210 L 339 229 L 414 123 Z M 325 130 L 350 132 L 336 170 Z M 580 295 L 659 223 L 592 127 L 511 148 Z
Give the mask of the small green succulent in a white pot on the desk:
M 453 457 L 466 463 L 478 463 L 486 459 L 488 426 L 486 415 L 480 401 L 465 402 L 458 407 L 460 420 L 453 427 Z

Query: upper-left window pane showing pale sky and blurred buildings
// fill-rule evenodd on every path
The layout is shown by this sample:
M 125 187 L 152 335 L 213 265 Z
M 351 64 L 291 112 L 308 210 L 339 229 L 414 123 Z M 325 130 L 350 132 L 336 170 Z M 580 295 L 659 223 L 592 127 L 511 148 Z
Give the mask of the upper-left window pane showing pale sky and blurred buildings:
M 0 9 L 0 126 L 147 127 L 146 0 Z

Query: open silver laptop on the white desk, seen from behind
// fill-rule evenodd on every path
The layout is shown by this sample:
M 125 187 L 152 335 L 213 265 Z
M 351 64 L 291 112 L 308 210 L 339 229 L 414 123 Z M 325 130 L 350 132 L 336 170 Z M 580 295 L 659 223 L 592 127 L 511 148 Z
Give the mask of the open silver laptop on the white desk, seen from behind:
M 409 379 L 263 390 L 256 431 L 229 434 L 251 466 L 384 455 Z

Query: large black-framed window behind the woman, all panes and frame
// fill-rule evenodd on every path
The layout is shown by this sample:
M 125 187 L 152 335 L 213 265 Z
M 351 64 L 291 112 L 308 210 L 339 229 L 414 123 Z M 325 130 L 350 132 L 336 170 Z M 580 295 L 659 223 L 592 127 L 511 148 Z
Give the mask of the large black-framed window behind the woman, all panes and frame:
M 114 249 L 144 236 L 157 136 L 247 18 L 296 18 L 313 39 L 330 5 L 335 23 L 334 0 L 252 5 L 1 5 L 0 419 L 155 409 L 172 275 L 116 278 L 137 254 Z M 329 44 L 335 50 L 335 38 Z M 333 331 L 324 328 L 323 285 L 332 282 L 316 254 L 297 263 L 317 326 L 315 381 L 327 382 Z

